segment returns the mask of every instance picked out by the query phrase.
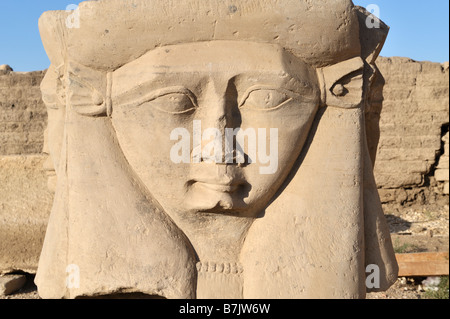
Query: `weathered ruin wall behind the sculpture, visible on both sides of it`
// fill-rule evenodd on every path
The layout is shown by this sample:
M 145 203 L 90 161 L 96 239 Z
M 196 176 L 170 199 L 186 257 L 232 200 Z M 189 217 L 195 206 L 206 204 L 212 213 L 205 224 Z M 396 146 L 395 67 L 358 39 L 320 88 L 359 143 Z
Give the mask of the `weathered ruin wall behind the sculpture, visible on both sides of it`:
M 448 63 L 380 58 L 377 64 L 385 79 L 375 165 L 383 203 L 448 203 Z M 44 75 L 0 73 L 0 274 L 35 271 L 52 205 L 42 170 Z

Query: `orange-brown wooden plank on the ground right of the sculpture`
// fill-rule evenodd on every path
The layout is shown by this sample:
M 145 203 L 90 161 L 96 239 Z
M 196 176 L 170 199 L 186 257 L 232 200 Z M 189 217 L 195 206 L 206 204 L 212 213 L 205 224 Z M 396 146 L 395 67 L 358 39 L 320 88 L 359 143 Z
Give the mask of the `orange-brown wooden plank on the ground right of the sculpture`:
M 448 253 L 397 254 L 399 277 L 447 276 Z

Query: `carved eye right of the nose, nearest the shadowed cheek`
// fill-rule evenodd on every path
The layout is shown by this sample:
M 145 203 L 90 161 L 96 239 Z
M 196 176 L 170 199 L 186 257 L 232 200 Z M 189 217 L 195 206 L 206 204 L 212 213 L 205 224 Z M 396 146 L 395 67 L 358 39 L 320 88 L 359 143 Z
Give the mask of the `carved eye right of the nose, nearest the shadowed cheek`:
M 292 101 L 293 94 L 281 89 L 253 88 L 245 94 L 240 107 L 263 111 L 275 110 Z

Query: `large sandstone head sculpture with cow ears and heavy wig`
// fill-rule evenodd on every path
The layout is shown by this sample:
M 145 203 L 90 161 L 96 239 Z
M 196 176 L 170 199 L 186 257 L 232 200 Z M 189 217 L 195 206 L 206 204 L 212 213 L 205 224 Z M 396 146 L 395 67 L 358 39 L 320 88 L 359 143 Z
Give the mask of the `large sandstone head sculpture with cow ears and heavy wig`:
M 369 265 L 369 288 L 396 280 L 365 119 L 385 25 L 349 0 L 68 18 L 39 22 L 57 174 L 43 298 L 363 298 Z

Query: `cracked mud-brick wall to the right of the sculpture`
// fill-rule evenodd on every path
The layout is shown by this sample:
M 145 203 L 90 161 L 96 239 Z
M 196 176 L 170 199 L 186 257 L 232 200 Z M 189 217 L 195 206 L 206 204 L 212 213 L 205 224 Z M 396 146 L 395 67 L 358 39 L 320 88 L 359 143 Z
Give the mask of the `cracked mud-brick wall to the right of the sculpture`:
M 441 166 L 446 165 L 443 137 L 449 123 L 448 63 L 380 58 L 377 65 L 385 79 L 375 164 L 382 200 L 428 200 L 445 193 L 443 171 L 436 168 L 441 157 Z

